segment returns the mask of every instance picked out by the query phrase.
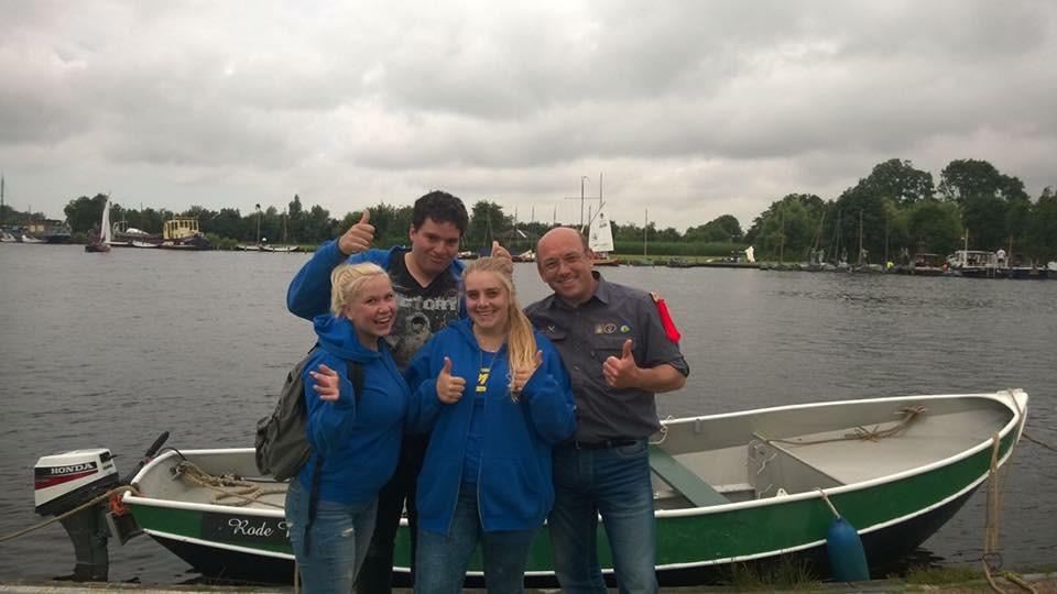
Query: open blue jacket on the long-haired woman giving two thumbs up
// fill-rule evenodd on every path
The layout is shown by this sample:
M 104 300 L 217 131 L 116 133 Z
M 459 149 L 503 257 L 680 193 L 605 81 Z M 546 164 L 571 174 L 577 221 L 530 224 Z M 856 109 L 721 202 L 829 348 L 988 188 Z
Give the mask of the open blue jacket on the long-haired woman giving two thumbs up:
M 431 532 L 448 532 L 462 482 L 466 436 L 482 356 L 471 324 L 469 319 L 460 320 L 434 334 L 405 372 L 408 385 L 417 385 L 412 399 L 421 407 L 421 415 L 408 421 L 408 430 L 432 429 L 417 498 L 418 526 Z M 505 346 L 487 384 L 477 485 L 481 526 L 489 532 L 531 530 L 543 524 L 554 505 L 552 446 L 576 430 L 569 374 L 551 342 L 538 332 L 535 337 L 543 351 L 543 365 L 528 380 L 517 403 L 506 387 L 510 370 Z M 451 359 L 451 374 L 467 380 L 462 398 L 451 405 L 437 398 L 437 375 L 445 356 Z

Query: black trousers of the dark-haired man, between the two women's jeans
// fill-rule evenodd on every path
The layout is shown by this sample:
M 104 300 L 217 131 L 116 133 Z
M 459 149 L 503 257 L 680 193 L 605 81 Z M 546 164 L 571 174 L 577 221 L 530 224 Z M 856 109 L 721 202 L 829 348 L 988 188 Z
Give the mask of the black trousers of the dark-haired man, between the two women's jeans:
M 411 535 L 411 575 L 414 580 L 415 546 L 418 531 L 418 510 L 415 508 L 415 485 L 422 461 L 426 457 L 428 437 L 406 436 L 400 449 L 400 462 L 389 483 L 378 493 L 378 515 L 374 535 L 367 550 L 367 559 L 356 582 L 357 594 L 390 594 L 393 586 L 393 546 L 400 516 L 407 509 Z

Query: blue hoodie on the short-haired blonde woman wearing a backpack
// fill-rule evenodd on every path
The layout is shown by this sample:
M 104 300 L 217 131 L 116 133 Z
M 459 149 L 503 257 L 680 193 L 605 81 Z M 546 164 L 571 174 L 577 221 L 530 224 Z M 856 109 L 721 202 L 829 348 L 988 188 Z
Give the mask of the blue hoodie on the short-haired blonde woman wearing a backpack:
M 305 403 L 308 407 L 308 443 L 312 458 L 298 479 L 312 488 L 312 474 L 318 454 L 323 454 L 319 499 L 340 504 L 364 503 L 378 496 L 396 468 L 404 417 L 411 392 L 384 340 L 378 351 L 362 344 L 356 329 L 345 317 L 330 314 L 313 320 L 319 349 L 305 365 Z M 363 394 L 356 398 L 346 361 L 363 367 Z M 335 402 L 322 400 L 313 389 L 309 371 L 324 364 L 340 377 Z

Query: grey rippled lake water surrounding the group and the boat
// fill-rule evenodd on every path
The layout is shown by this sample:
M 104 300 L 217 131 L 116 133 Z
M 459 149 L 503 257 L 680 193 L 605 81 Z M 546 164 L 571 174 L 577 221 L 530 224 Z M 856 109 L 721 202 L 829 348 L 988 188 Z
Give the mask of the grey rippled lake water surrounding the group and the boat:
M 41 455 L 106 447 L 120 472 L 163 430 L 176 448 L 246 447 L 287 369 L 313 344 L 285 309 L 307 254 L 175 253 L 0 245 L 0 535 L 41 520 Z M 896 396 L 1031 395 L 1026 431 L 1057 443 L 1057 282 L 754 270 L 636 268 L 607 278 L 660 290 L 683 331 L 691 374 L 658 396 L 664 416 Z M 546 295 L 532 264 L 524 305 Z M 1022 441 L 1001 516 L 1006 566 L 1057 559 L 1057 454 Z M 977 563 L 979 491 L 923 558 Z M 0 580 L 68 573 L 56 524 L 0 543 Z M 111 543 L 113 581 L 195 578 L 146 537 Z

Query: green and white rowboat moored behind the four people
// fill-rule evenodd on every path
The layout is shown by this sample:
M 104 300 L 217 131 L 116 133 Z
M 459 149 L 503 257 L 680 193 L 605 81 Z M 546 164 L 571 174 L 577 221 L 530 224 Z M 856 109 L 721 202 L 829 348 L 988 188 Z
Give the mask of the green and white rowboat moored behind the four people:
M 1009 459 L 1026 407 L 1027 394 L 1012 389 L 666 421 L 651 453 L 658 580 L 708 583 L 731 563 L 769 563 L 791 554 L 825 574 L 832 513 L 824 493 L 858 529 L 872 569 L 898 561 L 988 480 L 994 448 L 1000 465 Z M 185 461 L 209 475 L 237 476 L 260 492 L 242 496 L 252 503 L 240 496 L 218 501 L 236 488 L 174 480 Z M 139 495 L 127 493 L 123 501 L 139 526 L 204 575 L 292 580 L 285 485 L 260 476 L 252 449 L 168 450 L 144 466 L 133 485 Z M 600 560 L 610 572 L 604 526 L 599 530 Z M 408 558 L 404 525 L 396 540 L 397 582 L 407 582 Z M 526 579 L 530 585 L 555 583 L 546 530 L 532 550 Z M 478 559 L 468 580 L 480 583 Z

